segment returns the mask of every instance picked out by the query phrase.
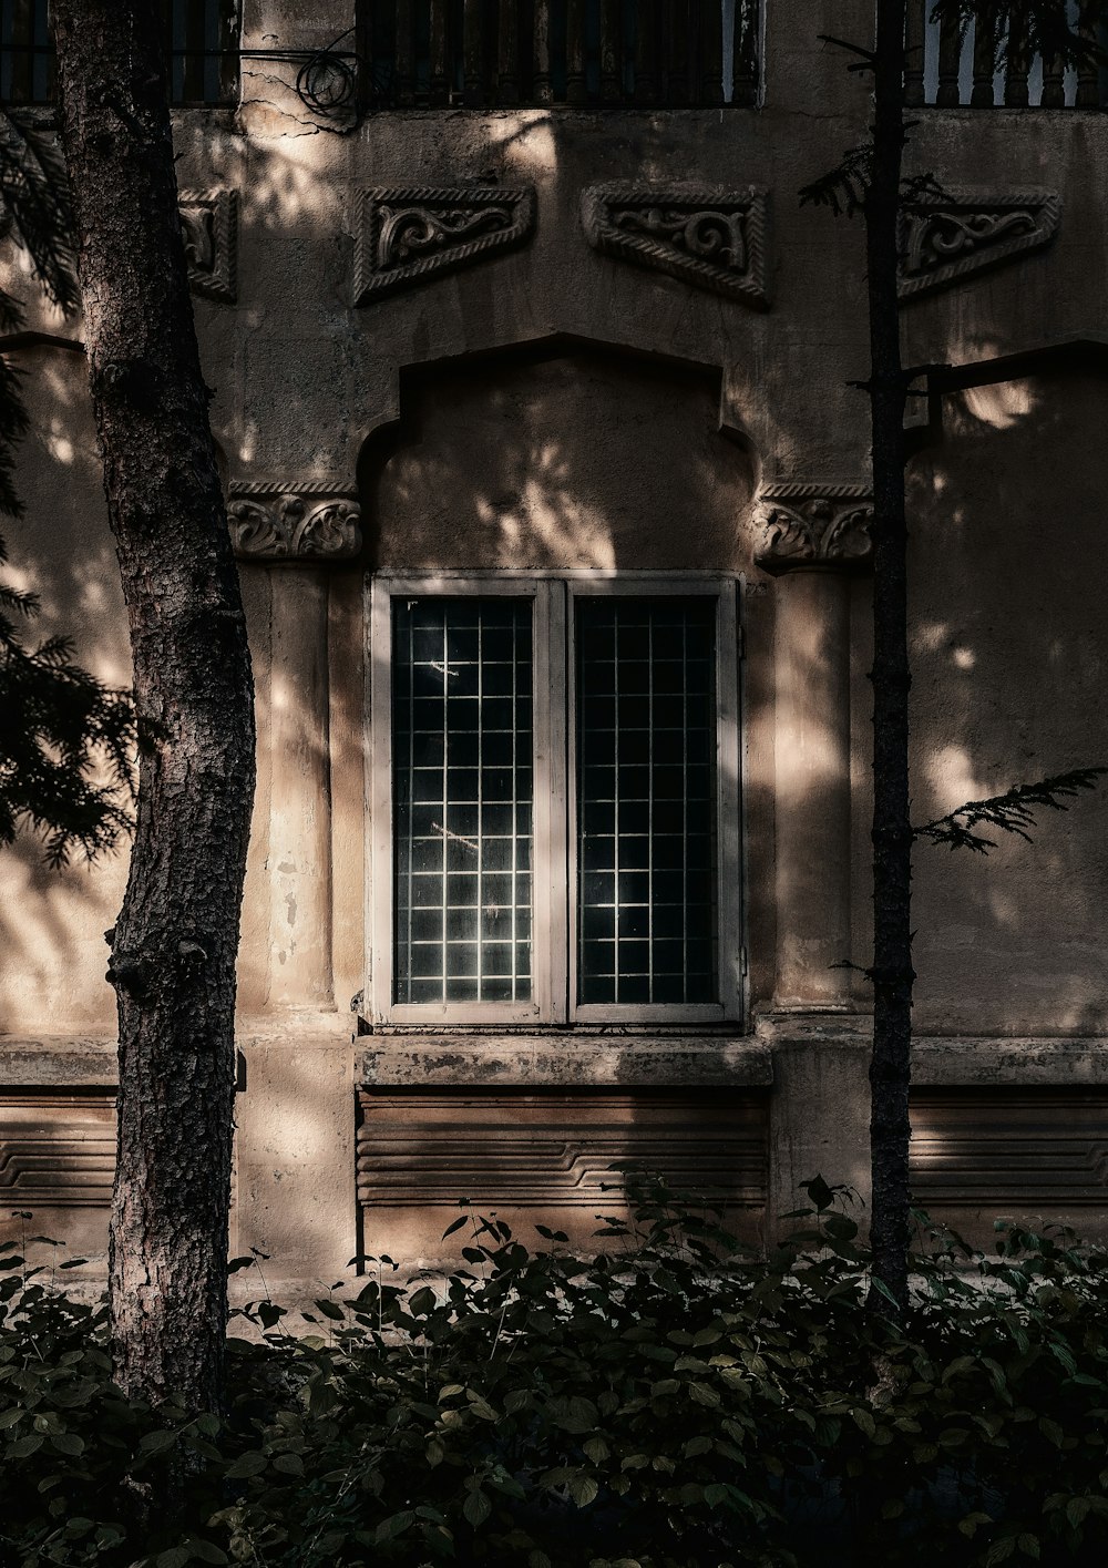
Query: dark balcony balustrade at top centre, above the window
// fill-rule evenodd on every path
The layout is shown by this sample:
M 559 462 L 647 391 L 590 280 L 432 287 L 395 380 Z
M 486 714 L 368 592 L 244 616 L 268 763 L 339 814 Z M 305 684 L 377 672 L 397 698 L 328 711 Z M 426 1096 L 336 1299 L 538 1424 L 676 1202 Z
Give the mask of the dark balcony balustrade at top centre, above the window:
M 359 13 L 370 108 L 751 105 L 759 0 L 390 0 Z

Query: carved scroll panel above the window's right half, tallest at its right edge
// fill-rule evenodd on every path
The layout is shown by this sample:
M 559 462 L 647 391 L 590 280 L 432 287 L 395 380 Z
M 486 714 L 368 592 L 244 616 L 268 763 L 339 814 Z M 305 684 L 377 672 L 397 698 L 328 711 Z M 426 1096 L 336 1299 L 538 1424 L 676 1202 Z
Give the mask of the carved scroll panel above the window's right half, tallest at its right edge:
M 605 256 L 769 309 L 769 198 L 755 185 L 613 180 L 585 190 L 581 220 L 589 245 Z

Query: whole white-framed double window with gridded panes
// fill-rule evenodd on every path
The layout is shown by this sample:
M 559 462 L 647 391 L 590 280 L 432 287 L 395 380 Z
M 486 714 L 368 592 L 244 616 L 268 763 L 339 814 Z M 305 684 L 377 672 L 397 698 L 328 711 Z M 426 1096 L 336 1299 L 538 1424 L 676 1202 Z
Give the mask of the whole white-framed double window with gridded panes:
M 735 588 L 378 579 L 373 1016 L 741 1008 Z

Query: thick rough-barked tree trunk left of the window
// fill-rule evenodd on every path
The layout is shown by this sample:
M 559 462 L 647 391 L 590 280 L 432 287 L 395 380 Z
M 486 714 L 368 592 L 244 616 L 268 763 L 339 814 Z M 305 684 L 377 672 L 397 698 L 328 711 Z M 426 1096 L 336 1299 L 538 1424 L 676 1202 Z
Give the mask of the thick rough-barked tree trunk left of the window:
M 177 216 L 158 6 L 55 0 L 61 135 L 103 483 L 135 662 L 139 797 L 119 1007 L 116 1381 L 218 1408 L 235 953 L 254 792 L 238 577 Z

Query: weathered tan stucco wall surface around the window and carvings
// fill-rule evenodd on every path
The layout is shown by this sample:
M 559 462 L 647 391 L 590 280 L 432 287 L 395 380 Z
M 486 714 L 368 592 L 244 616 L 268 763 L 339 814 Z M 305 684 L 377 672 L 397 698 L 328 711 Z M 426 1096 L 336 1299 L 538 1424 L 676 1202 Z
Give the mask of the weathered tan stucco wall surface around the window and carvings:
M 302 11 L 248 3 L 244 47 L 312 47 L 353 22 L 349 5 Z M 473 1195 L 486 1182 L 495 1200 L 505 1167 L 473 1151 L 483 1140 L 495 1151 L 523 1101 L 536 1148 L 550 1154 L 563 1127 L 575 1152 L 558 1159 L 580 1165 L 583 1193 L 603 1168 L 602 1146 L 654 1138 L 657 1151 L 668 1137 L 686 1149 L 696 1107 L 715 1091 L 735 1107 L 751 1212 L 791 1207 L 817 1168 L 865 1187 L 867 985 L 831 964 L 867 961 L 868 586 L 864 574 L 796 572 L 782 558 L 769 574 L 755 557 L 766 497 L 815 502 L 817 535 L 865 500 L 867 406 L 848 386 L 868 359 L 860 227 L 801 207 L 798 191 L 859 140 L 868 114 L 864 83 L 815 34 L 864 38 L 870 20 L 860 0 L 769 5 L 760 110 L 378 113 L 335 135 L 295 97 L 287 67 L 251 61 L 238 111 L 177 118 L 182 188 L 237 196 L 234 245 L 219 241 L 234 299 L 227 287 L 196 298 L 230 494 L 263 508 L 274 495 L 307 510 L 357 497 L 362 508 L 357 557 L 243 561 L 260 754 L 235 1223 L 237 1247 L 274 1251 L 290 1279 L 345 1264 L 359 1201 L 364 1229 L 376 1228 L 370 1250 L 389 1250 L 392 1234 L 392 1245 L 429 1254 L 450 1198 L 445 1179 L 420 1174 L 420 1151 L 440 1152 L 444 1118 L 456 1116 L 458 1149 L 476 1160 L 465 1167 L 459 1154 L 459 1168 Z M 1053 191 L 1061 221 L 1041 249 L 906 304 L 906 362 L 979 367 L 1095 336 L 1108 122 L 969 110 L 918 121 L 911 168 L 984 194 Z M 768 191 L 769 307 L 599 254 L 581 193 L 607 180 Z M 357 304 L 360 193 L 436 185 L 459 199 L 473 187 L 533 187 L 534 232 Z M 44 635 L 69 632 L 89 668 L 124 682 L 80 323 L 49 310 L 11 248 L 0 267 L 27 301 L 28 328 L 74 345 L 14 350 L 31 433 L 17 472 L 27 513 L 6 525 L 13 579 L 42 594 Z M 1080 373 L 1023 364 L 975 375 L 981 384 L 936 392 L 912 412 L 918 818 L 1108 760 L 1097 720 L 1108 379 L 1088 362 Z M 741 577 L 748 1033 L 654 1032 L 617 1049 L 581 1032 L 351 1038 L 367 960 L 367 574 L 500 566 Z M 920 848 L 917 1174 L 956 1218 L 969 1209 L 943 1173 L 969 1168 L 975 1143 L 987 1145 L 983 1085 L 987 1098 L 1001 1083 L 1005 1137 L 1023 1140 L 1028 1168 L 1070 1160 L 1083 1174 L 1058 1203 L 1075 1218 L 1103 1207 L 1106 812 L 1103 795 L 1081 800 L 1044 820 L 1034 847 L 1005 845 L 989 861 Z M 114 1000 L 102 931 L 124 872 L 125 853 L 47 873 L 30 840 L 0 856 L 0 1101 L 13 1096 L 8 1121 L 0 1105 L 0 1145 L 22 1149 L 28 1116 L 69 1126 L 72 1137 L 52 1143 L 63 1174 L 74 1148 L 94 1145 L 100 1159 L 108 1146 Z M 56 1096 L 74 1073 L 88 1102 L 66 1110 Z M 362 1135 L 360 1200 L 357 1085 L 371 1096 L 364 1129 L 384 1129 Z M 1020 1099 L 1048 1088 L 1053 1099 Z M 594 1093 L 580 1115 L 570 1090 Z M 539 1160 L 522 1214 L 553 1181 L 553 1165 L 542 1171 Z M 987 1198 L 987 1159 L 973 1181 Z M 78 1215 L 85 1237 L 99 1223 L 89 1214 L 103 1218 L 97 1192 Z M 1023 1201 L 1003 1182 L 995 1192 Z M 55 1198 L 77 1212 L 66 1181 Z M 1033 1185 L 1025 1201 L 1036 1201 Z M 574 1203 L 588 1206 L 581 1193 Z

